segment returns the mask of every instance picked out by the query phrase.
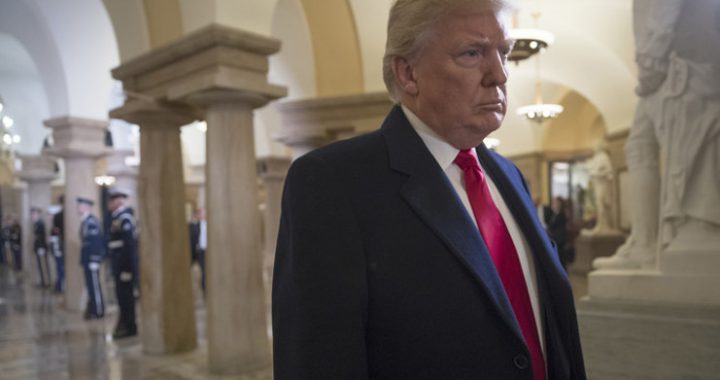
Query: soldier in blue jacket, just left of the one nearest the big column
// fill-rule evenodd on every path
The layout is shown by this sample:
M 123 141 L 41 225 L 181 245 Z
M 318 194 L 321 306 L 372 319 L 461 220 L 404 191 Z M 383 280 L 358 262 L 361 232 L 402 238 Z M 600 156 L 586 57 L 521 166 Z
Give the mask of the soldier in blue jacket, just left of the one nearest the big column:
M 85 319 L 99 319 L 105 315 L 102 288 L 100 286 L 100 265 L 105 257 L 105 242 L 100 221 L 90 213 L 94 202 L 87 198 L 77 198 L 77 211 L 80 214 L 80 265 L 85 271 L 85 286 L 88 303 Z

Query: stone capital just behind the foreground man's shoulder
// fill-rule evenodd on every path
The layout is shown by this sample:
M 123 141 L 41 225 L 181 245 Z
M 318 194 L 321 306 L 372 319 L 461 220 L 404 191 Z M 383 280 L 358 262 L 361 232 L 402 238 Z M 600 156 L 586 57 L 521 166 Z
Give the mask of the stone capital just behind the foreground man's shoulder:
M 275 139 L 293 160 L 333 141 L 377 129 L 392 108 L 385 92 L 301 99 L 277 104 L 282 128 Z

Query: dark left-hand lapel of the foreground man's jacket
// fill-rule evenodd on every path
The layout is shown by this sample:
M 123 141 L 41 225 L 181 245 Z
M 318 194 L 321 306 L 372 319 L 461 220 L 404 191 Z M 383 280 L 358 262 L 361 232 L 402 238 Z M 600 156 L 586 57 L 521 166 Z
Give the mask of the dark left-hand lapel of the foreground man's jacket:
M 400 107 L 383 123 L 390 165 L 408 175 L 402 197 L 449 251 L 470 271 L 495 304 L 500 317 L 522 339 L 510 302 L 480 232 L 447 176 L 437 165 Z

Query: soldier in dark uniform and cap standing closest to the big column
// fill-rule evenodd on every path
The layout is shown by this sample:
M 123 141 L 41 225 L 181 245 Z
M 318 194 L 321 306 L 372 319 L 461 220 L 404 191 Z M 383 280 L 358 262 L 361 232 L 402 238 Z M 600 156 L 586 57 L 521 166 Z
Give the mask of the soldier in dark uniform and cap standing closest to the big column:
M 137 236 L 135 216 L 132 208 L 125 204 L 127 193 L 112 189 L 109 193 L 108 209 L 112 212 L 110 225 L 110 260 L 120 318 L 113 338 L 121 339 L 137 335 L 135 323 L 134 280 L 137 278 Z

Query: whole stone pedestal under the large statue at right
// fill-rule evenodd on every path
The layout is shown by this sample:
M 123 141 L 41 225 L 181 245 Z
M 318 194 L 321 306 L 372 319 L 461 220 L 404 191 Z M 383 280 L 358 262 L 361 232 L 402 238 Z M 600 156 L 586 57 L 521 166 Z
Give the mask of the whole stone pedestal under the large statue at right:
M 666 251 L 659 256 L 660 269 L 590 273 L 589 297 L 578 304 L 589 378 L 717 378 L 718 266 L 698 272 L 689 264 L 673 265 L 692 262 L 698 254 Z M 710 261 L 715 257 L 705 255 Z

